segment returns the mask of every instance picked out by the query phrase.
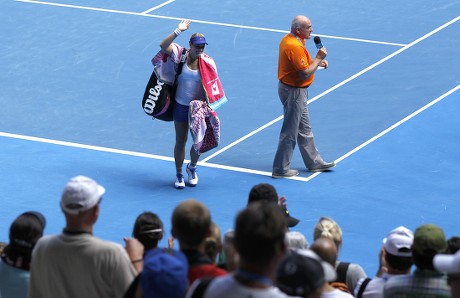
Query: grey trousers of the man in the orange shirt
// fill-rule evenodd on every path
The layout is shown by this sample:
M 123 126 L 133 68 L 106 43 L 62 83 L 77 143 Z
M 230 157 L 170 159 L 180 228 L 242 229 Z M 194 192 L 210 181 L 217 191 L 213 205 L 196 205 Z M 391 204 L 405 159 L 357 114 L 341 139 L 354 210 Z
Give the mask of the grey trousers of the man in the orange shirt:
M 290 169 L 296 144 L 307 168 L 323 165 L 325 162 L 315 147 L 310 126 L 307 88 L 290 87 L 279 82 L 278 95 L 283 104 L 284 120 L 273 161 L 273 173 L 283 174 Z

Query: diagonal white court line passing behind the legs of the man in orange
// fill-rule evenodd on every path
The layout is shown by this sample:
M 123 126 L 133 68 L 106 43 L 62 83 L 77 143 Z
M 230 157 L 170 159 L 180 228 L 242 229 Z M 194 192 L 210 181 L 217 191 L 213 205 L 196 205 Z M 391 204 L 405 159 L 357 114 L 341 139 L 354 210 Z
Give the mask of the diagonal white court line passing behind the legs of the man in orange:
M 417 40 L 411 42 L 410 44 L 404 46 L 403 48 L 397 50 L 396 52 L 394 52 L 394 53 L 392 53 L 392 54 L 386 56 L 385 58 L 383 58 L 383 59 L 381 59 L 381 60 L 375 62 L 374 64 L 370 65 L 369 67 L 366 67 L 365 69 L 363 69 L 363 70 L 361 70 L 360 72 L 358 72 L 358 73 L 352 75 L 352 76 L 349 77 L 348 79 L 343 80 L 342 82 L 338 83 L 338 84 L 335 85 L 335 86 L 332 86 L 331 88 L 329 88 L 328 90 L 324 91 L 323 93 L 321 93 L 321 94 L 319 94 L 319 95 L 313 97 L 312 99 L 308 100 L 308 104 L 311 104 L 312 102 L 318 100 L 319 98 L 323 97 L 324 95 L 326 95 L 326 94 L 328 94 L 328 93 L 330 93 L 330 92 L 336 90 L 337 88 L 339 88 L 339 87 L 345 85 L 346 83 L 348 83 L 348 82 L 350 82 L 350 81 L 356 79 L 357 77 L 359 77 L 359 76 L 365 74 L 366 72 L 368 72 L 368 71 L 374 69 L 375 67 L 379 66 L 379 65 L 382 64 L 383 62 L 385 62 L 385 61 L 387 61 L 387 60 L 393 58 L 394 56 L 396 56 L 396 55 L 398 55 L 398 54 L 400 54 L 400 53 L 402 53 L 402 52 L 404 52 L 404 51 L 406 51 L 407 49 L 409 49 L 409 48 L 411 48 L 412 46 L 416 45 L 417 43 L 421 42 L 422 40 L 424 40 L 424 39 L 430 37 L 431 35 L 433 35 L 433 34 L 439 32 L 440 30 L 446 28 L 447 26 L 449 26 L 449 25 L 455 23 L 455 22 L 458 21 L 459 19 L 460 19 L 460 16 L 458 16 L 457 18 L 455 18 L 455 19 L 453 19 L 453 20 L 451 20 L 451 21 L 445 23 L 444 25 L 442 25 L 442 26 L 440 26 L 440 27 L 434 29 L 433 31 L 431 31 L 431 32 L 429 32 L 429 33 L 427 33 L 427 34 L 425 34 L 424 36 L 422 36 L 422 37 L 420 37 L 419 39 L 417 39 Z M 262 131 L 263 129 L 265 129 L 265 128 L 267 128 L 267 127 L 269 127 L 269 126 L 275 124 L 275 123 L 278 122 L 278 121 L 280 121 L 281 119 L 283 119 L 283 115 L 281 115 L 281 116 L 279 116 L 278 118 L 276 118 L 276 119 L 274 119 L 274 120 L 268 122 L 267 124 L 264 124 L 263 126 L 257 128 L 256 130 L 252 131 L 251 133 L 249 133 L 249 134 L 247 134 L 247 135 L 241 137 L 240 139 L 238 139 L 238 140 L 234 141 L 233 143 L 229 144 L 228 146 L 222 148 L 221 150 L 217 151 L 217 152 L 214 153 L 213 155 L 211 155 L 211 156 L 209 156 L 208 158 L 206 158 L 206 160 L 209 160 L 211 157 L 215 157 L 215 156 L 217 155 L 217 153 L 220 154 L 220 153 L 222 153 L 222 152 L 224 152 L 224 151 L 230 149 L 231 147 L 233 147 L 233 146 L 235 146 L 235 145 L 241 143 L 242 141 L 246 140 L 248 137 L 255 135 L 256 133 Z

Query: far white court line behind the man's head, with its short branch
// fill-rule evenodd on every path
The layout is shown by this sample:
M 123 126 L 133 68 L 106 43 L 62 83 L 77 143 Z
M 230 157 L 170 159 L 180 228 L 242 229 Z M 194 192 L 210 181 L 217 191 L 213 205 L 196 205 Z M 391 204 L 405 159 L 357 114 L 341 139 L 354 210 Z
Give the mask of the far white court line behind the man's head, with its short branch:
M 116 9 L 106 9 L 106 8 L 97 8 L 97 7 L 90 7 L 90 6 L 80 6 L 80 5 L 71 5 L 71 4 L 62 4 L 62 3 L 53 3 L 53 2 L 46 2 L 46 1 L 36 1 L 36 0 L 15 0 L 16 2 L 25 2 L 25 3 L 34 3 L 34 4 L 43 4 L 43 5 L 50 5 L 50 6 L 58 6 L 58 7 L 67 7 L 67 8 L 76 8 L 76 9 L 84 9 L 84 10 L 92 10 L 92 11 L 102 11 L 102 12 L 110 12 L 110 13 L 118 13 L 118 14 L 127 14 L 127 15 L 137 15 L 142 17 L 151 17 L 151 18 L 158 18 L 158 19 L 169 19 L 169 20 L 183 20 L 184 18 L 178 17 L 167 17 L 161 15 L 152 15 L 148 14 L 147 12 L 157 9 L 161 6 L 164 6 L 174 0 L 167 1 L 163 4 L 155 6 L 150 10 L 146 10 L 144 12 L 129 12 L 123 10 L 116 10 Z M 201 24 L 209 24 L 209 25 L 216 25 L 216 26 L 225 26 L 225 27 L 234 27 L 234 28 L 241 28 L 241 29 L 250 29 L 250 30 L 259 30 L 259 31 L 269 31 L 269 32 L 278 32 L 278 33 L 288 33 L 289 31 L 286 30 L 278 30 L 278 29 L 270 29 L 270 28 L 263 28 L 263 27 L 253 27 L 253 26 L 245 26 L 245 25 L 237 25 L 237 24 L 228 24 L 228 23 L 220 23 L 220 22 L 208 22 L 203 20 L 194 20 L 191 19 L 194 23 L 201 23 Z M 339 36 L 331 36 L 331 35 L 321 35 L 317 34 L 321 37 L 327 37 L 331 39 L 341 39 L 341 40 L 349 40 L 349 41 L 356 41 L 356 42 L 364 42 L 364 43 L 374 43 L 374 44 L 382 44 L 382 45 L 391 45 L 391 46 L 405 46 L 404 44 L 400 43 L 393 43 L 393 42 L 385 42 L 385 41 L 376 41 L 376 40 L 369 40 L 369 39 L 360 39 L 360 38 L 349 38 L 349 37 L 339 37 Z

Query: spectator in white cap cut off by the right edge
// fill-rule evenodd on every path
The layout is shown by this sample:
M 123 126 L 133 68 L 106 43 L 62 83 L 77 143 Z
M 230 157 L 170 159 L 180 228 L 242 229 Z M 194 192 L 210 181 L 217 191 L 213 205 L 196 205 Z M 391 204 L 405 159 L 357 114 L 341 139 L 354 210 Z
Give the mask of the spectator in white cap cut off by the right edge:
M 452 297 L 460 297 L 460 251 L 451 255 L 434 256 L 433 266 L 436 270 L 447 273 Z

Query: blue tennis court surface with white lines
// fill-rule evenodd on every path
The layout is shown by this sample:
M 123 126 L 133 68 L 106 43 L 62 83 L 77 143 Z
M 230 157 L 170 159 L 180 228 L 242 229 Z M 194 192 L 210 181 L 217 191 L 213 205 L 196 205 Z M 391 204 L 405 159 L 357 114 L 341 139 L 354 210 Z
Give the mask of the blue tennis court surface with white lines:
M 337 167 L 307 172 L 297 150 L 300 175 L 272 179 L 278 45 L 298 14 L 328 49 L 309 110 L 316 145 Z M 203 154 L 200 184 L 176 190 L 174 127 L 148 118 L 141 98 L 159 43 L 184 18 L 193 23 L 176 42 L 206 35 L 229 102 L 217 110 L 221 144 Z M 5 0 L 0 26 L 0 241 L 26 210 L 46 216 L 46 234 L 59 233 L 60 194 L 76 175 L 106 187 L 95 234 L 119 243 L 145 210 L 169 231 L 187 198 L 225 231 L 263 182 L 288 198 L 301 220 L 294 230 L 310 242 L 319 217 L 334 218 L 340 259 L 371 276 L 382 238 L 399 225 L 431 222 L 459 235 L 459 1 Z

